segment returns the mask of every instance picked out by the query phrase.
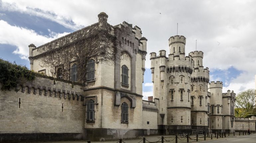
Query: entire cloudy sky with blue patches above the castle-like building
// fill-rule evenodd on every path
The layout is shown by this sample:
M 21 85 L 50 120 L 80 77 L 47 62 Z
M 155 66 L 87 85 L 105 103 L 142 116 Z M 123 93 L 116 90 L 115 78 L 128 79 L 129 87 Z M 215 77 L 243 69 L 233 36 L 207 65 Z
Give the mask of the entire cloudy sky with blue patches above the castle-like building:
M 256 1 L 254 0 L 0 0 L 0 57 L 29 67 L 28 45 L 40 46 L 98 21 L 126 21 L 139 26 L 148 39 L 147 52 L 168 50 L 171 36 L 187 38 L 186 55 L 204 52 L 210 81 L 222 81 L 223 92 L 255 88 Z M 149 54 L 144 99 L 153 95 Z M 150 77 L 150 78 L 146 78 Z

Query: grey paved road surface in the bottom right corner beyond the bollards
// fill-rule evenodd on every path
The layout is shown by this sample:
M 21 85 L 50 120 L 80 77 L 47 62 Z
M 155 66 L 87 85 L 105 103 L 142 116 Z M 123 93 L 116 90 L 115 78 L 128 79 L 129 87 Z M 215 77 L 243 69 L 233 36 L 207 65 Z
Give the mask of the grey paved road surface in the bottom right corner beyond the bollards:
M 228 137 L 223 139 L 221 138 L 216 140 L 204 141 L 203 143 L 256 143 L 256 134 Z

